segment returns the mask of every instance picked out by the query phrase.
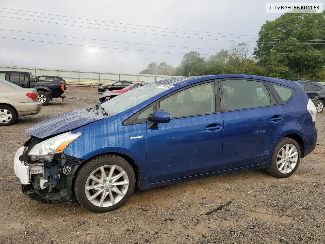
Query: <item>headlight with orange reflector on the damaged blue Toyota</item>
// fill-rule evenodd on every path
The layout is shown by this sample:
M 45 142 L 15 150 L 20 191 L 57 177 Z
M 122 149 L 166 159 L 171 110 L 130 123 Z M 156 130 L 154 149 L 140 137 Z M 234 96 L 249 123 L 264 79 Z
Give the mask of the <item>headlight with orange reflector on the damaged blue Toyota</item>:
M 76 140 L 81 135 L 82 133 L 72 134 L 71 132 L 66 132 L 58 136 L 54 136 L 33 146 L 28 155 L 31 157 L 32 161 L 52 161 L 55 154 L 62 153 L 64 148 L 66 148 L 71 142 Z

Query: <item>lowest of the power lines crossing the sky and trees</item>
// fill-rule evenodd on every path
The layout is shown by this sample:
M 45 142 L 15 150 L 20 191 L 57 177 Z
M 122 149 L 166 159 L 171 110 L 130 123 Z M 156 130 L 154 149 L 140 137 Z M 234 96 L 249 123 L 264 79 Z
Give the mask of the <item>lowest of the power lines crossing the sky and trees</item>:
M 30 40 L 30 39 L 22 39 L 22 38 L 14 38 L 14 37 L 6 37 L 6 36 L 0 36 L 0 38 L 15 39 L 15 40 L 24 40 L 24 41 L 33 41 L 33 42 L 43 42 L 43 43 L 52 43 L 52 44 L 62 44 L 62 45 L 71 45 L 71 46 L 80 46 L 80 47 L 98 47 L 98 46 L 88 46 L 88 45 L 80 45 L 80 44 L 38 41 L 38 40 Z M 181 52 L 164 52 L 164 51 L 153 51 L 153 50 L 127 49 L 127 48 L 118 48 L 118 47 L 98 47 L 98 48 L 109 48 L 109 49 L 119 49 L 119 50 L 129 50 L 129 51 L 143 51 L 143 52 L 159 52 L 159 53 L 186 54 L 186 53 L 181 53 Z M 252 51 L 249 51 L 249 52 L 252 52 Z M 271 53 L 271 52 L 261 52 L 261 53 Z M 294 53 L 293 54 L 293 53 L 279 53 L 279 52 L 277 52 L 276 54 L 321 55 L 321 56 L 325 56 L 325 54 L 313 54 L 313 53 Z M 201 54 L 201 55 L 214 56 L 215 54 Z

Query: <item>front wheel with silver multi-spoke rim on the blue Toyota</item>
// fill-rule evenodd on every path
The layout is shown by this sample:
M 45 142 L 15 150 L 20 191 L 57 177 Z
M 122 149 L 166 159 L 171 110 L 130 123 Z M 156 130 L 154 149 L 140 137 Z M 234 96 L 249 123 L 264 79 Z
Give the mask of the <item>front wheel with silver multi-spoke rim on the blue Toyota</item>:
M 101 155 L 78 171 L 74 192 L 85 209 L 102 213 L 123 206 L 131 197 L 136 177 L 131 165 L 117 155 Z

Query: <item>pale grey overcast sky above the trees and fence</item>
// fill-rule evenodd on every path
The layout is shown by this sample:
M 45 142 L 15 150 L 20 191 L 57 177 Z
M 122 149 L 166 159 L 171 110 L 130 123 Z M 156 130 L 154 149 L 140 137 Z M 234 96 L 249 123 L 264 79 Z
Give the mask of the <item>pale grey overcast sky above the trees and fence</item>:
M 289 1 L 287 0 L 286 2 Z M 308 1 L 305 0 L 305 2 Z M 274 20 L 279 16 L 279 14 L 266 14 L 265 1 L 261 0 L 0 0 L 0 7 L 2 7 L 0 8 L 0 11 L 19 13 L 13 14 L 0 12 L 0 16 L 93 27 L 75 27 L 31 20 L 0 17 L 0 29 L 177 47 L 128 44 L 0 30 L 0 36 L 2 37 L 69 43 L 85 46 L 154 50 L 162 52 L 186 53 L 191 50 L 196 50 L 201 54 L 207 54 L 204 55 L 205 57 L 208 57 L 209 54 L 215 54 L 218 52 L 218 50 L 203 50 L 197 48 L 229 49 L 231 42 L 230 40 L 237 40 L 238 42 L 249 41 L 250 51 L 253 51 L 256 40 L 254 37 L 256 37 L 259 29 L 261 28 L 261 25 L 265 23 L 266 20 Z M 11 8 L 16 10 L 8 10 L 3 8 Z M 45 14 L 22 12 L 17 10 L 26 10 Z M 35 15 L 36 17 L 22 14 Z M 123 24 L 125 23 L 133 25 L 71 19 L 65 17 L 57 17 L 50 14 L 90 20 L 119 22 Z M 41 18 L 40 16 L 54 19 Z M 65 20 L 91 22 L 96 24 L 86 24 Z M 121 27 L 119 28 L 112 27 L 111 25 L 147 30 L 154 29 L 164 32 L 145 31 Z M 177 33 L 184 33 L 184 31 L 156 29 L 135 25 L 225 34 L 210 34 L 214 36 L 186 35 Z M 101 30 L 94 28 L 110 30 Z M 112 30 L 121 30 L 124 32 Z M 137 34 L 129 32 L 142 32 L 151 34 Z M 207 34 L 198 32 L 191 33 Z M 196 38 L 175 37 L 175 35 Z M 250 38 L 241 38 L 243 36 L 240 35 L 252 36 L 250 36 Z M 207 40 L 197 38 L 224 40 Z M 251 53 L 252 52 L 250 52 L 250 54 Z M 57 69 L 138 73 L 142 69 L 147 68 L 148 64 L 153 61 L 156 61 L 157 63 L 166 61 L 173 66 L 177 66 L 180 63 L 183 55 L 184 54 L 70 46 L 0 38 L 0 66 L 5 64 L 12 64 L 16 66 L 32 66 Z

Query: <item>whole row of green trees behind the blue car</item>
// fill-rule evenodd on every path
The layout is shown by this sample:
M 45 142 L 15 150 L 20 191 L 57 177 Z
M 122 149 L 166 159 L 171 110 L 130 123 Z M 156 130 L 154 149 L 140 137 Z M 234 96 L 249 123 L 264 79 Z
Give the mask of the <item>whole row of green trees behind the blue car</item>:
M 140 74 L 246 74 L 325 81 L 325 11 L 285 13 L 273 21 L 267 20 L 256 44 L 252 56 L 248 43 L 232 42 L 229 50 L 221 50 L 207 59 L 190 51 L 177 67 L 152 62 Z

